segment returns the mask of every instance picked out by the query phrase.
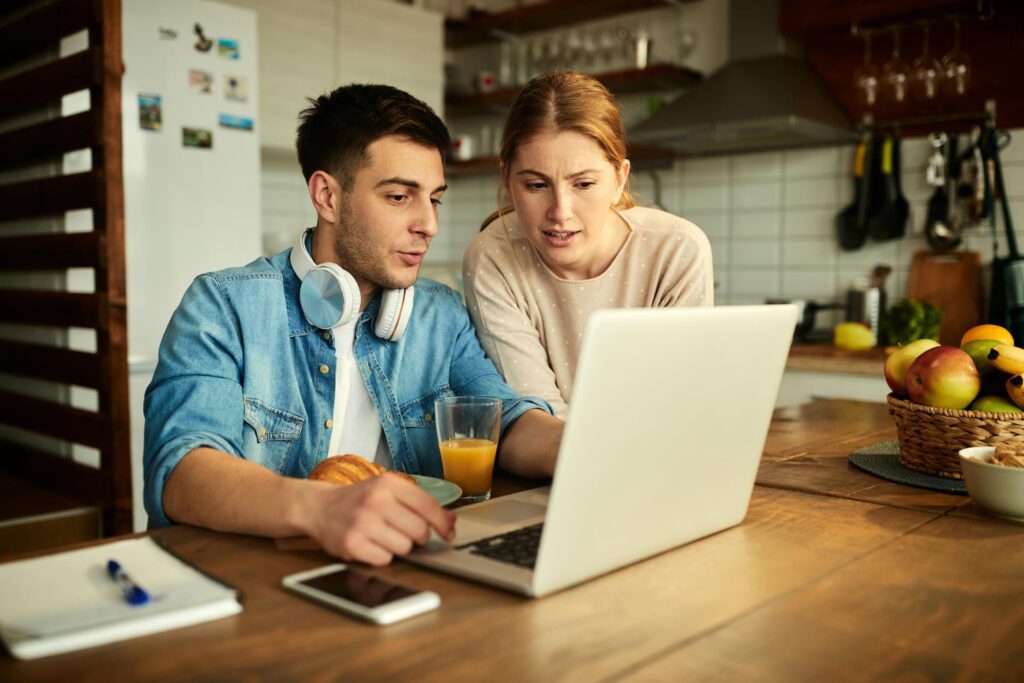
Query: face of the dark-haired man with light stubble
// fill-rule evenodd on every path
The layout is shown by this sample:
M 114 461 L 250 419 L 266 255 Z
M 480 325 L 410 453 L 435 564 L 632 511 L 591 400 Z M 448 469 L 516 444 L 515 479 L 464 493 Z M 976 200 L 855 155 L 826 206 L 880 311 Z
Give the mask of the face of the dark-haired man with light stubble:
M 367 156 L 351 191 L 341 190 L 334 260 L 360 290 L 411 287 L 437 233 L 447 187 L 440 153 L 388 135 L 371 143 Z

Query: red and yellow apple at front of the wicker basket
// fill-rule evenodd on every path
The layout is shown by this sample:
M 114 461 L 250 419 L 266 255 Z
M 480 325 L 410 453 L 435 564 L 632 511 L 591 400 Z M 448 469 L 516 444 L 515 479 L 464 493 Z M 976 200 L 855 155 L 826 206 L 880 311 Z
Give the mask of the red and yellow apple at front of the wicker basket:
M 959 411 L 970 405 L 980 390 L 974 360 L 955 346 L 930 348 L 906 371 L 906 392 L 915 403 Z

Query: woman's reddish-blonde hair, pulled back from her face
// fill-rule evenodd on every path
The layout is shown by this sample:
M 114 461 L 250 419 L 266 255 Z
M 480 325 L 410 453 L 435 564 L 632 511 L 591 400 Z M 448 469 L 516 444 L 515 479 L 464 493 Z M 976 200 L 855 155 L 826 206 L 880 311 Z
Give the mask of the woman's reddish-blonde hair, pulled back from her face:
M 519 146 L 543 132 L 582 133 L 597 142 L 608 162 L 620 169 L 628 157 L 626 127 L 618 102 L 597 79 L 572 71 L 557 71 L 531 79 L 516 96 L 505 118 L 502 130 L 502 182 L 498 187 L 498 206 L 487 216 L 480 229 L 490 221 L 512 211 L 503 197 L 508 184 L 509 169 Z M 636 206 L 629 190 L 629 179 L 616 209 Z

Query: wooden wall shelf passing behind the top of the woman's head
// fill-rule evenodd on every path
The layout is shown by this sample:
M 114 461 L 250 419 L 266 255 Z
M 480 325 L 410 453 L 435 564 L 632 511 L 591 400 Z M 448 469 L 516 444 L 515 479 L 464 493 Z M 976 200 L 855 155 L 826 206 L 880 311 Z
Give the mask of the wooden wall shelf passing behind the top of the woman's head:
M 623 71 L 595 74 L 594 78 L 616 94 L 642 92 L 644 90 L 670 90 L 699 82 L 703 75 L 677 65 L 651 65 L 646 69 L 626 69 Z M 446 116 L 472 116 L 481 114 L 504 114 L 520 88 L 503 88 L 494 92 L 473 95 L 447 95 L 444 97 Z

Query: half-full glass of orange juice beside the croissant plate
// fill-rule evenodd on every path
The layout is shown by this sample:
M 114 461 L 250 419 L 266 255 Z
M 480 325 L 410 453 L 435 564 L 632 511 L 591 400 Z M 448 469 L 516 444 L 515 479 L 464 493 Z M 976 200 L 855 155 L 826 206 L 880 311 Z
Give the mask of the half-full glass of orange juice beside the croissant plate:
M 462 488 L 461 502 L 487 500 L 502 425 L 502 399 L 446 396 L 434 401 L 434 416 L 444 478 Z

